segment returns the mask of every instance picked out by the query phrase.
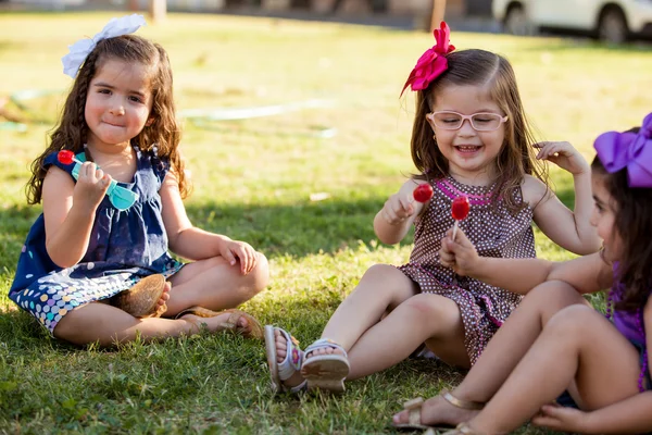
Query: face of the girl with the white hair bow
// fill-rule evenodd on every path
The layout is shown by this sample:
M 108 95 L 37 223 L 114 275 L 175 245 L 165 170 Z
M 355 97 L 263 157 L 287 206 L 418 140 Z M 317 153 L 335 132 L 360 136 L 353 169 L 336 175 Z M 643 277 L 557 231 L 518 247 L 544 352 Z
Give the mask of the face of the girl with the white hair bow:
M 109 59 L 90 80 L 85 119 L 89 147 L 128 147 L 146 126 L 152 108 L 148 69 Z

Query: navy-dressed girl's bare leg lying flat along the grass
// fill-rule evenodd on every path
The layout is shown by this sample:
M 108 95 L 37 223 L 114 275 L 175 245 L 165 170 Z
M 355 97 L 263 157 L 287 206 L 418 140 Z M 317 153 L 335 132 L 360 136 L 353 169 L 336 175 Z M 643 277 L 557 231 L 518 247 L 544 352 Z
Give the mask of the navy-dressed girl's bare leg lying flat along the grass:
M 214 318 L 184 315 L 181 319 L 136 319 L 123 310 L 105 303 L 88 303 L 68 312 L 54 327 L 54 336 L 75 345 L 99 343 L 112 346 L 116 343 L 133 341 L 137 336 L 145 341 L 191 335 L 199 332 L 201 324 L 209 331 L 221 331 L 229 313 Z M 239 325 L 247 328 L 247 320 L 241 318 Z

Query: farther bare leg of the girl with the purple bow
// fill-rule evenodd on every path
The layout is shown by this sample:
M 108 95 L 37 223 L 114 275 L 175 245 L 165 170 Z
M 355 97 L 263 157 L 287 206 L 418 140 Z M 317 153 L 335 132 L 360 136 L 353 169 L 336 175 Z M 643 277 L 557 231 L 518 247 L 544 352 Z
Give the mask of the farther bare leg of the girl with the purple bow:
M 530 290 L 491 338 L 476 364 L 453 390 L 453 396 L 461 400 L 488 401 L 535 343 L 550 318 L 575 303 L 588 304 L 575 288 L 562 282 L 544 283 Z M 477 411 L 455 408 L 437 396 L 424 403 L 422 422 L 454 425 L 476 413 Z M 408 412 L 396 414 L 393 422 L 408 422 Z

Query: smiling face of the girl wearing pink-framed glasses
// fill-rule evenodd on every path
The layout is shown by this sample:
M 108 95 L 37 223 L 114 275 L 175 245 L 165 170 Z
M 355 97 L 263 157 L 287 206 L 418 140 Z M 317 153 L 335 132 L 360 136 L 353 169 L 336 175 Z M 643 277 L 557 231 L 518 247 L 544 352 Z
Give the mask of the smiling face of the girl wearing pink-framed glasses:
M 440 89 L 435 98 L 432 112 L 450 111 L 463 115 L 475 113 L 496 113 L 505 116 L 499 105 L 491 100 L 488 86 L 449 85 Z M 449 162 L 451 175 L 461 182 L 488 184 L 496 175 L 496 161 L 505 140 L 504 123 L 492 132 L 478 132 L 469 120 L 465 120 L 459 129 L 440 128 L 426 116 L 437 146 Z

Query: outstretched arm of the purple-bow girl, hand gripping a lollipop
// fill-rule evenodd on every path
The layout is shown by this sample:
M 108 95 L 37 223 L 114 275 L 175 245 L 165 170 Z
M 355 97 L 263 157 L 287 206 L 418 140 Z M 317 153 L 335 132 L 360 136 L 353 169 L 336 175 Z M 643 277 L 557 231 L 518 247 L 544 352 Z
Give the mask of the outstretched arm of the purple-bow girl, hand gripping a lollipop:
M 569 261 L 552 262 L 542 259 L 505 259 L 479 257 L 463 231 L 457 228 L 455 241 L 452 229 L 441 240 L 440 262 L 459 275 L 466 275 L 489 285 L 525 295 L 547 281 L 563 281 L 579 293 L 594 293 L 610 288 L 613 281 L 611 266 L 599 252 Z

